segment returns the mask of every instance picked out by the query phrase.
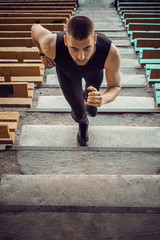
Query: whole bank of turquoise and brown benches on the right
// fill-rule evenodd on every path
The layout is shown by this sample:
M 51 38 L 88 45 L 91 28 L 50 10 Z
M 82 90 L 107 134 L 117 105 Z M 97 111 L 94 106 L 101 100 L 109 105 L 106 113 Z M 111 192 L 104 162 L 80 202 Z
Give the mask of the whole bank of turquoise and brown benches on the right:
M 146 69 L 147 83 L 155 84 L 156 105 L 160 106 L 160 2 L 119 0 L 117 10 Z

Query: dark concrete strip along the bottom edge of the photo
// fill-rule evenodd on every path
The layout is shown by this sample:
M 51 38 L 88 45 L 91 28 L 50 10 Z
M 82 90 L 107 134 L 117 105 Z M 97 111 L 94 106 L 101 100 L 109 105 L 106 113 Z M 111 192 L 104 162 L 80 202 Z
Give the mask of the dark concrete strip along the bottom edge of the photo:
M 4 213 L 0 239 L 159 240 L 157 214 Z

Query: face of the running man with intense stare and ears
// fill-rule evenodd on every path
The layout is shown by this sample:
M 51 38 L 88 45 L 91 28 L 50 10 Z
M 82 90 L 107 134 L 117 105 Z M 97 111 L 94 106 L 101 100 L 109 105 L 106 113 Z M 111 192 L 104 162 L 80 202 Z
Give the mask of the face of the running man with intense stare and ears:
M 96 47 L 97 35 L 91 34 L 83 40 L 76 40 L 71 35 L 64 36 L 64 43 L 68 47 L 68 51 L 79 66 L 87 64 L 94 54 Z

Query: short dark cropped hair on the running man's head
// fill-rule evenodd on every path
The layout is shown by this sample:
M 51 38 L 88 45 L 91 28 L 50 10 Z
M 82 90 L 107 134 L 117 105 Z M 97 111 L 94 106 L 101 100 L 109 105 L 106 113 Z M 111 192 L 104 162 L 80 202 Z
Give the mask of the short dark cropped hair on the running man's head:
M 69 20 L 66 31 L 76 40 L 83 40 L 94 32 L 94 24 L 88 17 L 75 16 Z

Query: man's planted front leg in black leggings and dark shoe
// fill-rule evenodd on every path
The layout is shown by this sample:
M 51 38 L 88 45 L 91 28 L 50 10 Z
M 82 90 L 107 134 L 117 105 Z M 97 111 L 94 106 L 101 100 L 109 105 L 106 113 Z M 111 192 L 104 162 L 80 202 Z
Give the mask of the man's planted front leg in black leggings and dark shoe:
M 84 103 L 82 79 L 81 77 L 71 79 L 65 73 L 56 67 L 59 83 L 66 98 L 71 106 L 71 115 L 73 119 L 79 123 L 79 131 L 77 133 L 77 141 L 80 145 L 86 146 L 89 141 L 88 137 L 88 118 L 86 106 Z

